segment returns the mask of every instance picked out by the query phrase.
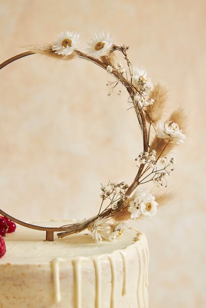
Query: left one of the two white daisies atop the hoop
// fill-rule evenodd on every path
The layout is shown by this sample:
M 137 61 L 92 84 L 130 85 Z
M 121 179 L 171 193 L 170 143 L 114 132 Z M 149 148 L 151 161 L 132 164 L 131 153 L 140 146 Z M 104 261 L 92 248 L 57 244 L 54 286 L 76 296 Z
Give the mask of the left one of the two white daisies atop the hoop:
M 58 55 L 71 55 L 80 43 L 79 36 L 77 32 L 73 31 L 61 32 L 58 35 L 58 39 L 54 42 L 54 45 L 52 45 L 52 50 Z

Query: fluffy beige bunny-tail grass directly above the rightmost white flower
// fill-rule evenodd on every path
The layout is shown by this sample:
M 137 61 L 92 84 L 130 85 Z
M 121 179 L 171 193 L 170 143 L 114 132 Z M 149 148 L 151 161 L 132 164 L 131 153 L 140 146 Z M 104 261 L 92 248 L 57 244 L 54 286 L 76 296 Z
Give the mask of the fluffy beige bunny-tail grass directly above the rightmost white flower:
M 153 99 L 154 103 L 147 107 L 145 117 L 148 122 L 155 125 L 163 116 L 164 107 L 168 99 L 167 88 L 159 83 L 156 84 L 149 95 L 149 99 Z

